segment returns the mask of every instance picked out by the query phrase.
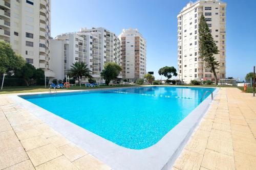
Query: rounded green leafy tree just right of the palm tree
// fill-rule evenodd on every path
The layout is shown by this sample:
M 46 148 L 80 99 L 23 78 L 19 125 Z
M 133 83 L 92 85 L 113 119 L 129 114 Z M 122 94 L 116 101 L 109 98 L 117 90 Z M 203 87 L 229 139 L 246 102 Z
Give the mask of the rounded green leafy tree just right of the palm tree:
M 105 80 L 106 85 L 109 85 L 111 80 L 117 79 L 117 76 L 122 71 L 122 67 L 116 63 L 108 62 L 105 63 L 104 69 L 101 71 L 100 75 Z

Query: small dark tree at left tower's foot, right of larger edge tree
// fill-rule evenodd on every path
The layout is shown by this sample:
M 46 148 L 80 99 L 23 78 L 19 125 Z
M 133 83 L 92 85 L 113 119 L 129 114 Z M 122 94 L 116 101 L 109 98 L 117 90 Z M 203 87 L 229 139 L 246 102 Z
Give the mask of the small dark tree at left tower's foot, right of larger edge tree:
M 14 75 L 17 78 L 23 79 L 27 86 L 29 86 L 35 79 L 36 69 L 33 65 L 26 63 L 22 68 L 16 69 Z

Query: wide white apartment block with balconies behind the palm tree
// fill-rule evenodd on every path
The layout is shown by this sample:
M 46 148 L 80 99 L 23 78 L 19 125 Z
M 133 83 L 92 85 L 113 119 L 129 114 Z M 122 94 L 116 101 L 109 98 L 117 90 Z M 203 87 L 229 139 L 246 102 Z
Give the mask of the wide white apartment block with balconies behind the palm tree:
M 76 61 L 86 62 L 97 82 L 102 82 L 100 72 L 106 62 L 121 65 L 120 41 L 114 33 L 104 28 L 82 28 L 79 32 L 61 34 L 52 39 L 50 44 L 53 56 L 51 68 L 56 79 L 62 80 Z

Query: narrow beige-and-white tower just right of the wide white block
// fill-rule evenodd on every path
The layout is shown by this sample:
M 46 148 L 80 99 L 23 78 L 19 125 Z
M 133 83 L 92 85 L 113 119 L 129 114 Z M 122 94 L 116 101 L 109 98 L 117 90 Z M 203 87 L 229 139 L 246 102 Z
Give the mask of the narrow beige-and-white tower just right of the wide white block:
M 143 79 L 146 74 L 146 40 L 138 29 L 123 29 L 118 37 L 122 42 L 123 79 Z

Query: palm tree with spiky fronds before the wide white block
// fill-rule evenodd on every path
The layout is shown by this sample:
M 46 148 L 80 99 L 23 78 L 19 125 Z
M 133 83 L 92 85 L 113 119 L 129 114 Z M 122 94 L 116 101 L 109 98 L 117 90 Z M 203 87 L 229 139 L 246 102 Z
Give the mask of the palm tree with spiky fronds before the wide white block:
M 71 65 L 67 75 L 79 80 L 79 77 L 92 78 L 92 71 L 87 67 L 85 62 L 75 62 Z M 79 80 L 80 84 L 80 80 Z

